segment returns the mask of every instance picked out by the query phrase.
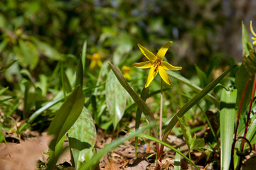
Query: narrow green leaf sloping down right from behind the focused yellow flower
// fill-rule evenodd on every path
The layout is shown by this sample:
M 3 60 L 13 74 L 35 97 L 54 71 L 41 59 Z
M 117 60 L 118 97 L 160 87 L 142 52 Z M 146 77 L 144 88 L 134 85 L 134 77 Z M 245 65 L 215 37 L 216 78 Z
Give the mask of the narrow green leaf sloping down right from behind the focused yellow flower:
M 185 77 L 181 76 L 180 74 L 178 74 L 176 72 L 167 70 L 167 73 L 169 74 L 170 77 L 173 77 L 174 79 L 177 79 L 181 83 L 189 86 L 191 89 L 193 89 L 193 91 L 200 92 L 203 90 L 199 86 L 196 86 L 191 81 L 189 81 L 188 79 L 186 79 Z M 205 97 L 208 101 L 210 101 L 210 103 L 213 103 L 217 108 L 220 108 L 220 102 L 218 101 L 217 98 L 215 98 L 211 94 L 206 94 Z

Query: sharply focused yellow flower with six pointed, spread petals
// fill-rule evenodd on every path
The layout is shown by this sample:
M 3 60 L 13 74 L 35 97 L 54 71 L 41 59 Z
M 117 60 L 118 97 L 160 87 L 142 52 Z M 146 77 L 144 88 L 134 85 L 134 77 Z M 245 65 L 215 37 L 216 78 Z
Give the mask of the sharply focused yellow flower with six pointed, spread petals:
M 160 48 L 159 52 L 154 55 L 149 50 L 146 50 L 145 47 L 138 44 L 139 49 L 142 51 L 143 55 L 149 60 L 146 62 L 139 62 L 133 64 L 134 67 L 148 69 L 149 70 L 149 77 L 146 81 L 145 87 L 148 87 L 151 81 L 156 77 L 156 74 L 159 72 L 161 78 L 166 82 L 166 84 L 172 85 L 171 79 L 169 78 L 166 70 L 180 70 L 182 67 L 174 67 L 168 62 L 164 62 L 164 55 L 166 54 L 167 50 L 169 49 L 172 41 L 167 42 L 163 47 Z

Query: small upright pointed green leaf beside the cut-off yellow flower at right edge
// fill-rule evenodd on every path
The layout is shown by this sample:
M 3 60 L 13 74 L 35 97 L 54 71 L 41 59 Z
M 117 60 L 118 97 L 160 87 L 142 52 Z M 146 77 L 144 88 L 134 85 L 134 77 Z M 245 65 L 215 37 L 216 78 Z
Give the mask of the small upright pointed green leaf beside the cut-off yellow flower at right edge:
M 242 50 L 245 52 L 246 57 L 249 56 L 251 49 L 253 49 L 252 42 L 250 40 L 245 24 L 242 21 Z

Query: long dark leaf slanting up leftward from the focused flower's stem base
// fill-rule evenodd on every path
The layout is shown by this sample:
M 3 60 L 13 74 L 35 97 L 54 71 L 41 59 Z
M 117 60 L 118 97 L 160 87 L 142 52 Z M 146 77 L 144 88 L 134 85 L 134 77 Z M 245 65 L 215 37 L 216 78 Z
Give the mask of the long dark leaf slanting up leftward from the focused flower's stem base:
M 154 126 L 152 127 L 154 137 L 159 138 L 158 130 L 155 125 L 156 120 L 155 120 L 154 115 L 153 115 L 152 111 L 150 110 L 150 108 L 146 105 L 146 103 L 143 101 L 143 99 L 139 97 L 139 95 L 134 91 L 134 89 L 132 89 L 132 87 L 129 86 L 128 82 L 126 81 L 126 79 L 124 78 L 122 73 L 116 67 L 114 67 L 113 64 L 111 64 L 110 62 L 109 62 L 109 64 L 110 64 L 112 71 L 114 72 L 114 75 L 117 77 L 119 83 L 124 87 L 124 89 L 132 97 L 132 99 L 137 104 L 137 106 L 142 110 L 146 119 L 149 120 L 149 123 L 154 124 Z M 156 149 L 157 149 L 157 151 L 159 151 L 158 143 L 156 143 Z

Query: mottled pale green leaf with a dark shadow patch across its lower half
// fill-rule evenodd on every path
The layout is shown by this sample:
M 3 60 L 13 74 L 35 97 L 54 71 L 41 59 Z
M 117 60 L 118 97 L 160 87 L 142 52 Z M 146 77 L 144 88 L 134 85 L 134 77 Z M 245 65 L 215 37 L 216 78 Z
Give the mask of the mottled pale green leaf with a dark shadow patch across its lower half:
M 92 156 L 92 149 L 96 143 L 96 135 L 92 116 L 87 108 L 83 107 L 78 120 L 68 130 L 68 140 L 76 169 L 79 169 L 80 163 L 89 161 Z

